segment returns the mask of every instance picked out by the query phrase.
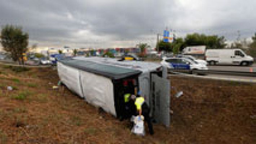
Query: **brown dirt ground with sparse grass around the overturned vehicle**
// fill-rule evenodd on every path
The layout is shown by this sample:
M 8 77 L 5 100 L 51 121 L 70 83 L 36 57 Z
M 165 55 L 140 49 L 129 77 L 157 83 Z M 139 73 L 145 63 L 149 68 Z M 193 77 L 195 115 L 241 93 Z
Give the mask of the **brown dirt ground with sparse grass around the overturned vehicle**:
M 131 134 L 127 121 L 102 113 L 66 88 L 53 68 L 0 65 L 0 143 L 255 143 L 256 85 L 170 77 L 171 126 Z M 8 91 L 7 86 L 13 90 Z M 177 91 L 184 95 L 175 98 Z

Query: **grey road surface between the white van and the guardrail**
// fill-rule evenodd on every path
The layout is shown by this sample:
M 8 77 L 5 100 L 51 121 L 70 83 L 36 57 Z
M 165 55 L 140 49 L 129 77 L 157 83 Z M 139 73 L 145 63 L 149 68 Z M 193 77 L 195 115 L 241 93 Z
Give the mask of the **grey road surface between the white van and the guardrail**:
M 226 66 L 226 65 L 217 65 L 217 66 L 208 66 L 211 70 L 220 70 L 220 71 L 243 71 L 250 72 L 250 68 L 252 68 L 253 72 L 256 72 L 256 64 L 251 66 Z

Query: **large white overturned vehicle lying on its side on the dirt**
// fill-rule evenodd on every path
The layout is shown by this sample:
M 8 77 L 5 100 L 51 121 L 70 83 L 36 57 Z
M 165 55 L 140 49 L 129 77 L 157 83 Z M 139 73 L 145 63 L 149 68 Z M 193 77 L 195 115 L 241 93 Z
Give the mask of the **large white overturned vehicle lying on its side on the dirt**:
M 140 91 L 152 118 L 169 126 L 170 82 L 167 69 L 160 64 L 75 57 L 59 60 L 57 69 L 60 80 L 71 91 L 115 117 L 121 115 L 124 94 Z

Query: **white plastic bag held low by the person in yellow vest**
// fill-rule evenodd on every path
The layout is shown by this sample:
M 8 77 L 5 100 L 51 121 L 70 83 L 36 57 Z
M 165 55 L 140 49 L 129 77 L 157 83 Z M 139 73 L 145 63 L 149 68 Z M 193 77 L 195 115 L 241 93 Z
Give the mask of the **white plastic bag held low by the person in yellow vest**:
M 144 121 L 140 116 L 133 117 L 134 126 L 132 132 L 136 135 L 145 135 Z

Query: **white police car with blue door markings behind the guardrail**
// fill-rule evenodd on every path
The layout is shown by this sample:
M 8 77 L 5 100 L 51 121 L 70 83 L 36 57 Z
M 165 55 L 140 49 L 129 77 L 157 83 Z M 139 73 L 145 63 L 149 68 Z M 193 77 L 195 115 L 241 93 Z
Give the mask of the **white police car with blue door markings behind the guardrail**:
M 206 64 L 198 63 L 197 61 L 191 60 L 186 57 L 164 57 L 161 62 L 162 66 L 170 69 L 187 69 L 191 70 L 208 70 Z

